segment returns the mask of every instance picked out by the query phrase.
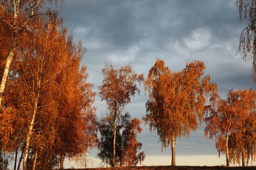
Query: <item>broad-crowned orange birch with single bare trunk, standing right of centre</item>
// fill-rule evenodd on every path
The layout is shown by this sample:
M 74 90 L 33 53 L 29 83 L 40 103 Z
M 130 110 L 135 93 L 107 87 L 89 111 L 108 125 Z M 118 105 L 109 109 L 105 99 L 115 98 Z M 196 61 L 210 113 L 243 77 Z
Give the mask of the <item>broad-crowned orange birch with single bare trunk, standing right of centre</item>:
M 172 147 L 172 166 L 175 166 L 175 140 L 189 136 L 202 123 L 206 96 L 217 90 L 204 74 L 204 63 L 187 63 L 179 72 L 171 72 L 164 61 L 156 59 L 145 81 L 146 103 L 145 124 L 150 131 L 157 130 L 162 147 Z

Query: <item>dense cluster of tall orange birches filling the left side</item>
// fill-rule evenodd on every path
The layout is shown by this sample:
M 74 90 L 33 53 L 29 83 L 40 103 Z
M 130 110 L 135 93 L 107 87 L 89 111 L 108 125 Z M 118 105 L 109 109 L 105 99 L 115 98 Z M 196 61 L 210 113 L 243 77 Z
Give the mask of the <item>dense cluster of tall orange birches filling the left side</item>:
M 17 2 L 13 5 L 15 9 L 20 7 L 22 19 L 34 3 L 46 3 L 42 0 L 31 1 L 31 4 L 22 0 L 14 2 Z M 12 9 L 12 3 L 0 5 Z M 6 14 L 2 9 L 0 12 Z M 21 21 L 13 21 L 11 17 L 8 20 L 10 23 Z M 1 170 L 7 168 L 9 155 L 15 155 L 15 170 L 21 166 L 23 170 L 49 170 L 59 165 L 63 168 L 65 157 L 83 157 L 83 153 L 97 143 L 95 93 L 87 81 L 86 67 L 81 67 L 85 48 L 81 42 L 74 44 L 54 12 L 28 21 L 31 22 L 26 23 L 15 41 L 1 103 Z M 4 25 L 1 32 L 10 31 L 7 23 L 2 20 L 0 23 Z M 10 37 L 0 35 L 1 77 L 7 67 L 8 51 L 13 48 L 6 45 Z

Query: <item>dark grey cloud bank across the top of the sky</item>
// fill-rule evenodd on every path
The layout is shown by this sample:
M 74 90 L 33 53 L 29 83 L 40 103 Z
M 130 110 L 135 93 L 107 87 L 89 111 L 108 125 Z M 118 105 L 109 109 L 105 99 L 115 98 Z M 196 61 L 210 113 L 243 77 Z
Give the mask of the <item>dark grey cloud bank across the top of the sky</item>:
M 72 0 L 65 1 L 61 15 L 69 29 L 78 31 L 75 37 L 98 39 L 110 50 L 141 43 L 163 50 L 166 42 L 182 43 L 205 26 L 214 37 L 226 38 L 238 23 L 234 2 L 221 0 Z

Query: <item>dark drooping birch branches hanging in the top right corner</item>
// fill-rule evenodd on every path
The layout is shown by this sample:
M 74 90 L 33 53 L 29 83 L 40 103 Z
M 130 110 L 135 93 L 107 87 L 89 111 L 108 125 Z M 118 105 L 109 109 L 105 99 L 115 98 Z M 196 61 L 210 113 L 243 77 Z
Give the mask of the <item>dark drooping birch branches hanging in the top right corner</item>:
M 256 83 L 256 0 L 236 0 L 240 22 L 246 20 L 247 26 L 243 29 L 238 51 L 243 59 L 252 60 L 252 78 Z

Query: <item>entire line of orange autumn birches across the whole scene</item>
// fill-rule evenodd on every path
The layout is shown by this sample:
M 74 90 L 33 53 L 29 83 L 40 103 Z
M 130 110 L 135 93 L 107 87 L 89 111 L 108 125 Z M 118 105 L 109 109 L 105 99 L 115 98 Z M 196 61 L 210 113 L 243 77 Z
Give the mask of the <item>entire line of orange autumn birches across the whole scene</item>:
M 189 137 L 202 122 L 205 137 L 216 141 L 227 166 L 255 160 L 256 91 L 231 89 L 222 99 L 200 61 L 174 72 L 156 59 L 148 77 L 136 74 L 131 64 L 115 69 L 106 63 L 98 95 L 106 101 L 107 114 L 97 120 L 97 94 L 87 68 L 81 66 L 86 49 L 81 41 L 74 43 L 57 12 L 46 9 L 51 3 L 0 2 L 1 170 L 10 161 L 14 170 L 21 163 L 23 170 L 63 169 L 65 157 L 86 168 L 88 151 L 94 147 L 107 165 L 141 163 L 141 120 L 125 110 L 141 84 L 149 94 L 142 122 L 157 131 L 162 148 L 171 147 L 173 166 L 176 140 Z

